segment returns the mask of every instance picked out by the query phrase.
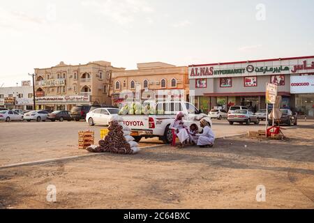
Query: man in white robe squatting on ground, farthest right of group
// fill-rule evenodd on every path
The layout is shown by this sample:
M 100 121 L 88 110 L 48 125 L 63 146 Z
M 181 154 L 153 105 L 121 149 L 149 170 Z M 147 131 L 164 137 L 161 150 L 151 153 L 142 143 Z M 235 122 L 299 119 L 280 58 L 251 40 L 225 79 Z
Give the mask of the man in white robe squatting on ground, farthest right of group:
M 195 136 L 198 137 L 197 146 L 200 146 L 201 148 L 213 147 L 215 134 L 213 130 L 211 130 L 211 124 L 203 118 L 200 121 L 200 126 L 203 128 L 203 132 L 202 134 L 195 134 Z

